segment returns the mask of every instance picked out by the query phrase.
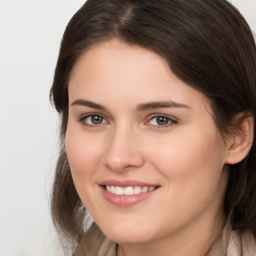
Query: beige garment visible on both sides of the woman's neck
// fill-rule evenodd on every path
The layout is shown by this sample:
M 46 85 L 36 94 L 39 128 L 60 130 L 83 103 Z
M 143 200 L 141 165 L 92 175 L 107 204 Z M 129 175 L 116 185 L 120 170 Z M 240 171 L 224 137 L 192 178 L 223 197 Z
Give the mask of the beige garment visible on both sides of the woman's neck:
M 73 256 L 116 256 L 116 248 L 117 244 L 108 240 L 93 223 L 77 245 Z M 256 256 L 256 241 L 252 235 L 241 237 L 236 231 L 231 231 L 227 221 L 206 256 Z

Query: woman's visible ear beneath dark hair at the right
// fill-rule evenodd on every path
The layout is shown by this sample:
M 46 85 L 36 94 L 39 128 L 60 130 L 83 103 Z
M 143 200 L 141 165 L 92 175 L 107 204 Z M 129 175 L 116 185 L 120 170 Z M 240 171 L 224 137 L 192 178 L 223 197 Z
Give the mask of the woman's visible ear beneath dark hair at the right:
M 237 116 L 236 120 L 241 115 Z M 235 127 L 235 131 L 229 137 L 228 140 L 228 152 L 226 155 L 226 163 L 235 164 L 241 161 L 250 151 L 253 142 L 254 119 L 251 116 L 243 118 L 238 127 Z

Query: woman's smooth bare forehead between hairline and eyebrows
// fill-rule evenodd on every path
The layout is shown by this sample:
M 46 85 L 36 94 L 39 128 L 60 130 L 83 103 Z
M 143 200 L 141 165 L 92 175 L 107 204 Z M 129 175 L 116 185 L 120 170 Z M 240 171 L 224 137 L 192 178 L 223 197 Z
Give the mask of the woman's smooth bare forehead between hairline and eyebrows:
M 96 101 L 115 99 L 116 103 L 118 99 L 122 102 L 129 99 L 130 103 L 131 99 L 137 103 L 173 100 L 197 108 L 209 101 L 179 79 L 164 58 L 118 40 L 99 43 L 81 54 L 73 67 L 68 93 L 70 100 L 77 97 Z

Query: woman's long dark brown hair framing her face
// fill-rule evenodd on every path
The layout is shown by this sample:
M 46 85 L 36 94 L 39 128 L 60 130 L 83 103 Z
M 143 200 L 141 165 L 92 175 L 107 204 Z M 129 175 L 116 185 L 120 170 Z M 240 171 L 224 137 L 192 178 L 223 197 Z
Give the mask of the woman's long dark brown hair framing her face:
M 80 54 L 100 41 L 117 38 L 162 56 L 184 82 L 212 100 L 214 121 L 224 136 L 234 116 L 254 117 L 256 48 L 248 24 L 226 0 L 87 0 L 66 26 L 52 102 L 61 117 L 60 153 L 52 187 L 52 219 L 66 237 L 83 235 L 86 209 L 75 190 L 64 149 L 68 79 Z M 249 154 L 230 165 L 224 213 L 232 228 L 256 237 L 255 137 Z

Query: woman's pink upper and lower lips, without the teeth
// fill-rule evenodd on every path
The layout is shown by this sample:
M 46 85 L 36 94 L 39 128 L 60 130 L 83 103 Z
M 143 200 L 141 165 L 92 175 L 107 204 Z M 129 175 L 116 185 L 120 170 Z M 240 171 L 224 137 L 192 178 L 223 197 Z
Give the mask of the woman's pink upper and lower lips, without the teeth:
M 132 194 L 132 195 L 117 195 L 111 192 L 108 192 L 104 186 L 105 185 L 114 185 L 114 186 L 156 186 L 155 189 L 147 192 L 142 192 L 139 194 Z M 99 184 L 99 188 L 102 192 L 103 197 L 113 205 L 121 206 L 121 207 L 130 207 L 135 205 L 151 195 L 153 195 L 159 188 L 159 185 L 149 184 L 137 180 L 115 180 L 115 179 L 108 179 L 104 180 Z

